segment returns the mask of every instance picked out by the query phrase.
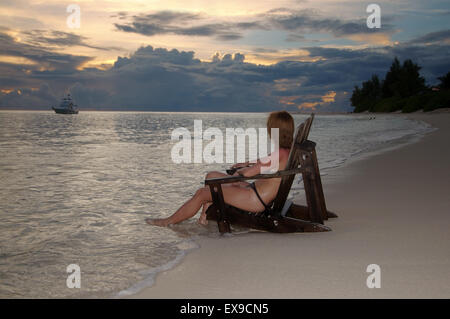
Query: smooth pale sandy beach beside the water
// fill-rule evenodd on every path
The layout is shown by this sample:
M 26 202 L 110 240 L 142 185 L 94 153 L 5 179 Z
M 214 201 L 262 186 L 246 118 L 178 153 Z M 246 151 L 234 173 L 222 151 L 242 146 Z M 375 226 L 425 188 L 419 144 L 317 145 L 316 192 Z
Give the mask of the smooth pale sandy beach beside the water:
M 450 114 L 407 116 L 438 130 L 324 176 L 333 231 L 202 238 L 131 297 L 449 298 Z M 369 264 L 379 289 L 366 286 Z

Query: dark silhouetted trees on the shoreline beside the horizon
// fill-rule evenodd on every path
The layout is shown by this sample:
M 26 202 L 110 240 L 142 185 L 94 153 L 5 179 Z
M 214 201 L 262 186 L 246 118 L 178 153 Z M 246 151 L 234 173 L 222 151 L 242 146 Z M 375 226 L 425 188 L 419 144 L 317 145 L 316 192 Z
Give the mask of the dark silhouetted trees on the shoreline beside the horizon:
M 421 67 L 412 60 L 403 62 L 395 58 L 384 80 L 377 75 L 355 86 L 351 104 L 354 112 L 432 111 L 450 107 L 450 72 L 439 77 L 437 86 L 427 86 L 420 75 Z

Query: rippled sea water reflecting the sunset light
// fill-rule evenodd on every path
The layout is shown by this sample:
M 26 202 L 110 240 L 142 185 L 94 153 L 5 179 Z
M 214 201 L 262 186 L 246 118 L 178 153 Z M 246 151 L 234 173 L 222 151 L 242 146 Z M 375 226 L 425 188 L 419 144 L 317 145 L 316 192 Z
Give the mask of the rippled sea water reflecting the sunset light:
M 196 218 L 171 228 L 167 217 L 229 164 L 175 164 L 171 133 L 265 127 L 266 113 L 0 112 L 0 297 L 117 297 L 151 285 L 197 246 L 218 236 Z M 307 115 L 294 115 L 296 125 Z M 322 174 L 351 158 L 430 130 L 392 115 L 318 115 L 310 139 Z M 292 194 L 301 188 L 295 183 Z M 291 195 L 292 195 L 291 194 Z M 245 231 L 245 229 L 240 229 Z M 226 240 L 226 238 L 224 238 Z M 81 270 L 68 288 L 67 266 Z

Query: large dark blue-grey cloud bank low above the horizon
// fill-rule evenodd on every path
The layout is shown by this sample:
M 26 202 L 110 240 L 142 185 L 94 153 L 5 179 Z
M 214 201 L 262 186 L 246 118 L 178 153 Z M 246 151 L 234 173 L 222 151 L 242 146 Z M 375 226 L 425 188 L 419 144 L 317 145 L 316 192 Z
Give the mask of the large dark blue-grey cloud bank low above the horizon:
M 429 84 L 450 70 L 450 45 L 445 43 L 354 50 L 308 47 L 304 50 L 315 62 L 283 61 L 272 65 L 247 63 L 240 53 L 217 54 L 211 62 L 202 62 L 192 51 L 146 46 L 131 56 L 118 57 L 108 70 L 77 70 L 89 57 L 57 54 L 18 43 L 1 32 L 0 40 L 1 55 L 36 62 L 0 63 L 2 106 L 51 105 L 70 89 L 81 108 L 268 111 L 295 110 L 307 102 L 319 111 L 347 111 L 351 110 L 349 97 L 354 85 L 372 74 L 384 77 L 396 56 L 419 63 Z M 264 48 L 255 51 L 276 53 Z M 51 67 L 42 70 L 39 66 L 43 64 Z

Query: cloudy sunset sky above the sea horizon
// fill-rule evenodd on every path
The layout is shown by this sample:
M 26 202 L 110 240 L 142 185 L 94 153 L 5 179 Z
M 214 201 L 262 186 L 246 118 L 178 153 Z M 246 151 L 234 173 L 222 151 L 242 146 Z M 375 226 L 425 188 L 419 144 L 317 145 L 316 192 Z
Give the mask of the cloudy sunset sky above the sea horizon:
M 447 1 L 1 0 L 0 107 L 348 111 L 354 85 L 413 59 L 450 71 Z M 70 28 L 66 8 L 81 8 Z

